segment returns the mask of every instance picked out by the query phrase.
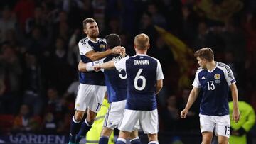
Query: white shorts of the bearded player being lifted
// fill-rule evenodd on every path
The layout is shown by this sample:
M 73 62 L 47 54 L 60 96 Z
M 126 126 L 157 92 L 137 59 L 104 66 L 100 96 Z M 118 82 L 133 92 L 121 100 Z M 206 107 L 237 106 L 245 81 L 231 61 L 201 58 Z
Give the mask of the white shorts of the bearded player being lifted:
M 78 96 L 75 99 L 75 110 L 85 111 L 86 108 L 97 113 L 106 93 L 106 86 L 79 84 Z

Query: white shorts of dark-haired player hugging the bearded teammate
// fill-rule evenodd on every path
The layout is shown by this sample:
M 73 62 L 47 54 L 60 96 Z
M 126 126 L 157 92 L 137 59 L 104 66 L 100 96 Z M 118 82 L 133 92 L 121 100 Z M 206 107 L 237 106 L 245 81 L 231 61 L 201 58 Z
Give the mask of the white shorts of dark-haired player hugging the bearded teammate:
M 126 101 L 127 100 L 117 101 L 117 102 L 112 102 L 110 104 L 110 107 L 105 116 L 103 127 L 107 127 L 113 130 L 114 128 L 117 128 L 119 126 L 124 114 Z M 135 124 L 134 129 L 132 131 L 138 130 L 139 128 L 140 127 L 139 127 L 139 121 L 138 121 Z

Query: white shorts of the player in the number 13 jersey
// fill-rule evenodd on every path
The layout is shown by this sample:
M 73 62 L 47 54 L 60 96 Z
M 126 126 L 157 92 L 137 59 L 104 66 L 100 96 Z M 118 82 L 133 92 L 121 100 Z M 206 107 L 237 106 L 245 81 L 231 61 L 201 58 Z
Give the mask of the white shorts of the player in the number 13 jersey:
M 201 133 L 214 132 L 215 135 L 230 136 L 230 116 L 207 116 L 199 114 Z

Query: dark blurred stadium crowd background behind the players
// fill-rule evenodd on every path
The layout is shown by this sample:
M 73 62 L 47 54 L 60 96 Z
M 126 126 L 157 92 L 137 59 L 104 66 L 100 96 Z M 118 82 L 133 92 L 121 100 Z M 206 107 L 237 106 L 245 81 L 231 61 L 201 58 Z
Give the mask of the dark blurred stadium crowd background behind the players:
M 193 52 L 212 48 L 215 60 L 233 70 L 240 97 L 256 109 L 255 10 L 254 0 L 1 0 L 0 141 L 66 141 L 82 20 L 92 17 L 99 37 L 119 34 L 128 55 L 134 55 L 134 35 L 149 35 L 148 53 L 165 76 L 157 96 L 160 143 L 200 143 L 199 102 L 188 118 L 179 117 L 198 67 Z M 22 114 L 29 119 L 25 127 Z M 255 126 L 248 137 L 256 143 Z

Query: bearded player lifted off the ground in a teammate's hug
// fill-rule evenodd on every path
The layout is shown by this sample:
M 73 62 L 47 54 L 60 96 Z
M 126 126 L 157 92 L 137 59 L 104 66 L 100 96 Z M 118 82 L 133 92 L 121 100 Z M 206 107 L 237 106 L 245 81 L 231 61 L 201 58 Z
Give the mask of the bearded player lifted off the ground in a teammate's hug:
M 100 60 L 107 55 L 119 54 L 124 48 L 118 47 L 106 50 L 105 40 L 97 38 L 99 28 L 92 18 L 86 18 L 83 22 L 83 31 L 87 35 L 79 41 L 79 51 L 82 62 Z M 85 135 L 90 130 L 97 111 L 99 111 L 105 96 L 106 87 L 102 72 L 79 72 L 78 96 L 75 99 L 75 115 L 70 123 L 70 144 L 79 143 L 80 135 Z M 85 121 L 81 121 L 87 109 Z M 77 135 L 78 134 L 78 135 Z

